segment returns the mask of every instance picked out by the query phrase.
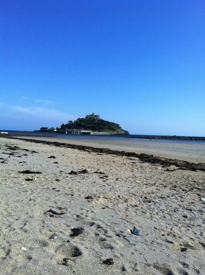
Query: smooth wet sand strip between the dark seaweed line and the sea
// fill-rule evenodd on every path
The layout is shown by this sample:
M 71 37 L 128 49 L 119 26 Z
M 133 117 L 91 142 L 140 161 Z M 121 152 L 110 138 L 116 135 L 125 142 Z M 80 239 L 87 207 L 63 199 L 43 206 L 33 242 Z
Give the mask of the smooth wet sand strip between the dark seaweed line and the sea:
M 124 140 L 94 140 L 94 139 L 66 139 L 66 138 L 45 138 L 28 137 L 38 140 L 56 141 L 76 145 L 93 146 L 99 148 L 109 148 L 112 150 L 152 154 L 165 158 L 177 160 L 187 160 L 190 162 L 205 162 L 205 144 L 200 143 L 181 143 L 163 141 L 140 141 L 127 139 Z

